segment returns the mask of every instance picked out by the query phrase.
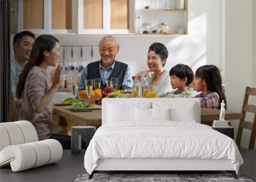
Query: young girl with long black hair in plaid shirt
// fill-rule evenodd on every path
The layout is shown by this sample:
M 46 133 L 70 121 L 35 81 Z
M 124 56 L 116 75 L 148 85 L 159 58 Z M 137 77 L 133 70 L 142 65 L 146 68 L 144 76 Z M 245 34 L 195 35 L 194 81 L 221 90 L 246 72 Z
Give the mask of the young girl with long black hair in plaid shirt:
M 221 89 L 220 70 L 214 65 L 201 66 L 195 73 L 195 90 L 200 91 L 196 98 L 201 99 L 201 107 L 220 109 L 220 102 L 226 97 Z

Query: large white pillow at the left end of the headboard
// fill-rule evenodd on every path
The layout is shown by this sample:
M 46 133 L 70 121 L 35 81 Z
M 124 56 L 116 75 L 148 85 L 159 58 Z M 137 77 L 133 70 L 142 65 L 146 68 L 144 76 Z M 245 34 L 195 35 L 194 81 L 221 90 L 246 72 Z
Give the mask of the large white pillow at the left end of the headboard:
M 136 121 L 134 106 L 108 104 L 107 121 Z

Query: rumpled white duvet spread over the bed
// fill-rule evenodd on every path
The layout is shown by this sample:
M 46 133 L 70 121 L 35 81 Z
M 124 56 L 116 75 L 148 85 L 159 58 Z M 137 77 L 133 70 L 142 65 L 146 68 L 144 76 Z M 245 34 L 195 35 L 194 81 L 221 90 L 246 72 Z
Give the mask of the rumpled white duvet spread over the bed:
M 230 137 L 207 125 L 172 121 L 100 126 L 84 155 L 86 171 L 92 174 L 106 158 L 229 159 L 237 173 L 243 163 Z

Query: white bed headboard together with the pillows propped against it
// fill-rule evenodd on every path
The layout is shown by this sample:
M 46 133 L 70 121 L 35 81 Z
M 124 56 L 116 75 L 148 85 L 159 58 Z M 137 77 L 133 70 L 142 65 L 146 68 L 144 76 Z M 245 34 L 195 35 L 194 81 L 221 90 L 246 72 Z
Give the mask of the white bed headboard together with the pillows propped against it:
M 157 118 L 200 123 L 200 99 L 104 98 L 102 100 L 102 125 L 109 122 L 150 121 Z

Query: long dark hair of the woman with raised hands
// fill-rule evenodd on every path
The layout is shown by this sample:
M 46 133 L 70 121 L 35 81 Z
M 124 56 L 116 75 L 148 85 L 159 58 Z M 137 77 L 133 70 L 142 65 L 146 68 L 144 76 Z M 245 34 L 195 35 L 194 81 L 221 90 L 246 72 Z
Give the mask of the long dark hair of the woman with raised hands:
M 28 63 L 25 65 L 22 73 L 19 76 L 19 82 L 17 84 L 17 98 L 22 97 L 22 92 L 24 91 L 25 82 L 29 71 L 34 66 L 39 66 L 44 61 L 45 50 L 51 52 L 55 47 L 56 42 L 59 42 L 57 38 L 51 36 L 50 34 L 42 34 L 36 38 L 33 44 L 31 55 L 29 57 Z

